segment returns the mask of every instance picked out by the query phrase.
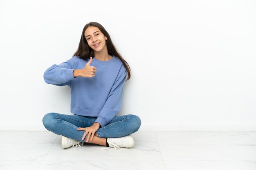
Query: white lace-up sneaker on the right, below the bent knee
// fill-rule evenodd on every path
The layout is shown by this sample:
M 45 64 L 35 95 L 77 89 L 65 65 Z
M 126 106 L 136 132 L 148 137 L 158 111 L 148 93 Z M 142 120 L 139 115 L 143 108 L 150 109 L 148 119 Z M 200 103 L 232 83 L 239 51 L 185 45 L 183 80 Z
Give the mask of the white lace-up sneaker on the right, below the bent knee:
M 110 147 L 114 147 L 115 150 L 119 147 L 131 148 L 134 146 L 134 140 L 130 135 L 124 137 L 107 138 L 107 142 Z

